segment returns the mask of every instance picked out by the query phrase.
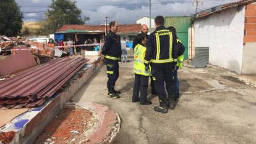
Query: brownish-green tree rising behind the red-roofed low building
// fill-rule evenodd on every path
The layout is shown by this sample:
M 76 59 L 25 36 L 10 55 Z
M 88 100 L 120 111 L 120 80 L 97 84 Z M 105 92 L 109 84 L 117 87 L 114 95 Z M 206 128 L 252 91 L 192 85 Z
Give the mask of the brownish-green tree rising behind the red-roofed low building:
M 44 30 L 46 33 L 54 33 L 62 25 L 83 25 L 87 18 L 82 18 L 82 11 L 76 6 L 75 1 L 52 0 L 48 12 L 45 13 L 46 20 Z

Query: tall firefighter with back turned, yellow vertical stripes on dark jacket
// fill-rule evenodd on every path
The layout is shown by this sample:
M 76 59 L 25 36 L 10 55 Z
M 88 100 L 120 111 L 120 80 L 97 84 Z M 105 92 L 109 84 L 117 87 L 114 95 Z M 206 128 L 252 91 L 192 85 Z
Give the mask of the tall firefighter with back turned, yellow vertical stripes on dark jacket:
M 160 106 L 155 106 L 154 110 L 160 113 L 168 113 L 170 108 L 175 106 L 173 70 L 177 62 L 176 36 L 164 27 L 164 17 L 155 18 L 156 30 L 150 34 L 147 41 L 145 54 L 145 69 L 149 68 L 151 62 L 152 77 L 158 94 Z M 168 92 L 168 98 L 164 89 L 164 82 Z M 169 100 L 169 102 L 168 102 Z

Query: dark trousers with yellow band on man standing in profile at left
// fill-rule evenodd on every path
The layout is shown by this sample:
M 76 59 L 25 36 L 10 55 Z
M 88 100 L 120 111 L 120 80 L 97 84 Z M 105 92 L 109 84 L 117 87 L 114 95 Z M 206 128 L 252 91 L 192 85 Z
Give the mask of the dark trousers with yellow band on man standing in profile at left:
M 106 58 L 106 67 L 108 74 L 108 90 L 113 90 L 119 77 L 119 65 L 117 60 L 109 60 Z

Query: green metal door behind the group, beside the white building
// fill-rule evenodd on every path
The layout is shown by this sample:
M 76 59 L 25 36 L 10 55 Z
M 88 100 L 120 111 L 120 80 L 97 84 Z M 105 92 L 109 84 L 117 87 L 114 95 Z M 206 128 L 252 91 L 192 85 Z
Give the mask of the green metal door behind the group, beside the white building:
M 186 47 L 184 52 L 184 60 L 188 58 L 188 38 L 190 17 L 165 17 L 165 26 L 173 26 L 176 28 L 177 37 L 181 40 L 182 44 Z

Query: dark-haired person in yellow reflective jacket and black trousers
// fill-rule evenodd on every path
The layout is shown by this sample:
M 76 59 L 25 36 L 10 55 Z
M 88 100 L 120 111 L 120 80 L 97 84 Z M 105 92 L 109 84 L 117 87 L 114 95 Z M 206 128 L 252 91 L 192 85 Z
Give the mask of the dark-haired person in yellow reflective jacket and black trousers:
M 145 34 L 138 34 L 136 41 L 139 43 L 134 47 L 134 92 L 132 95 L 132 102 L 140 102 L 140 105 L 151 105 L 152 102 L 147 100 L 148 95 L 148 77 L 151 76 L 151 68 L 145 71 L 144 57 L 146 52 L 146 36 Z M 140 98 L 139 98 L 140 93 Z

